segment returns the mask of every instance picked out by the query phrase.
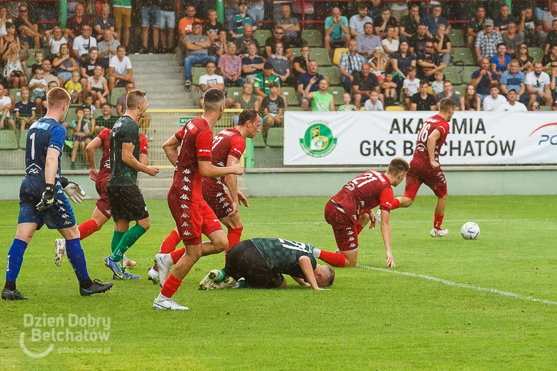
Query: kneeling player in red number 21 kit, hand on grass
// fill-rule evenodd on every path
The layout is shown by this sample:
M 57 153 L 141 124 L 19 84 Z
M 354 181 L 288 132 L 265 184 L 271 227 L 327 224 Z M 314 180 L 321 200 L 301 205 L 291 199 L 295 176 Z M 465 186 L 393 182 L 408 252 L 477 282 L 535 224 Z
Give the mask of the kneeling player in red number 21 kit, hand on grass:
M 334 267 L 354 267 L 358 260 L 358 236 L 369 222 L 370 229 L 375 227 L 376 218 L 372 208 L 379 205 L 386 265 L 395 267 L 389 220 L 394 200 L 391 186 L 398 186 L 409 168 L 405 160 L 393 159 L 386 173 L 367 171 L 347 182 L 325 205 L 325 221 L 333 228 L 338 252 L 315 248 L 313 256 Z

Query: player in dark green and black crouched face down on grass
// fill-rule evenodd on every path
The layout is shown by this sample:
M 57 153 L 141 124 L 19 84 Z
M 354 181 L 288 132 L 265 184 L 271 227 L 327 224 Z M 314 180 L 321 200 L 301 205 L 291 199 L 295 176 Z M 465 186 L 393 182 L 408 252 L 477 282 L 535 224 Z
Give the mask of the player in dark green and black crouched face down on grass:
M 323 290 L 321 287 L 333 284 L 335 271 L 328 265 L 317 264 L 313 250 L 311 244 L 288 239 L 246 239 L 230 248 L 224 268 L 210 271 L 199 283 L 199 290 L 281 288 L 286 286 L 283 274 L 300 285 Z

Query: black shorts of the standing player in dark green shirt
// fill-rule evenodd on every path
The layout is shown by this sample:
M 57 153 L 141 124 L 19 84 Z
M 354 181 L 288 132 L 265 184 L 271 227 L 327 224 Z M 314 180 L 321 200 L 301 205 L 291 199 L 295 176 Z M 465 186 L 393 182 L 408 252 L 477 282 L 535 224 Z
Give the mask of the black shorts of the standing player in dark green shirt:
M 136 184 L 125 187 L 111 186 L 107 187 L 107 190 L 114 221 L 138 221 L 149 217 L 147 205 Z

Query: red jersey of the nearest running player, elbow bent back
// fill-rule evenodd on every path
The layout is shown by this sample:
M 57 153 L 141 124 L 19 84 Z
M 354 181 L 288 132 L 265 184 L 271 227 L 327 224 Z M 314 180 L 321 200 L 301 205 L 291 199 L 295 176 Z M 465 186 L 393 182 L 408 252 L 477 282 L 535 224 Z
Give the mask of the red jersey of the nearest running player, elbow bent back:
M 198 160 L 211 161 L 213 133 L 207 120 L 201 116 L 189 120 L 174 134 L 180 141 L 180 152 L 174 169 L 174 180 L 168 191 L 168 198 L 179 202 L 191 202 L 193 197 L 203 199 L 201 174 Z

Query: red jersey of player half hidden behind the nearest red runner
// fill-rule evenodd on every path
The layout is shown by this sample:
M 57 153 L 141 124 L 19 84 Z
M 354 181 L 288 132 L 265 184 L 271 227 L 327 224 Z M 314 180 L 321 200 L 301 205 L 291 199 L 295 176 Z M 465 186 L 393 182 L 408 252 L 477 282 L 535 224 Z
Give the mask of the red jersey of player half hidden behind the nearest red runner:
M 224 129 L 213 138 L 212 164 L 223 168 L 228 163 L 228 156 L 240 159 L 246 150 L 246 139 L 238 129 Z M 223 177 L 204 177 L 203 183 L 210 186 L 222 187 Z

